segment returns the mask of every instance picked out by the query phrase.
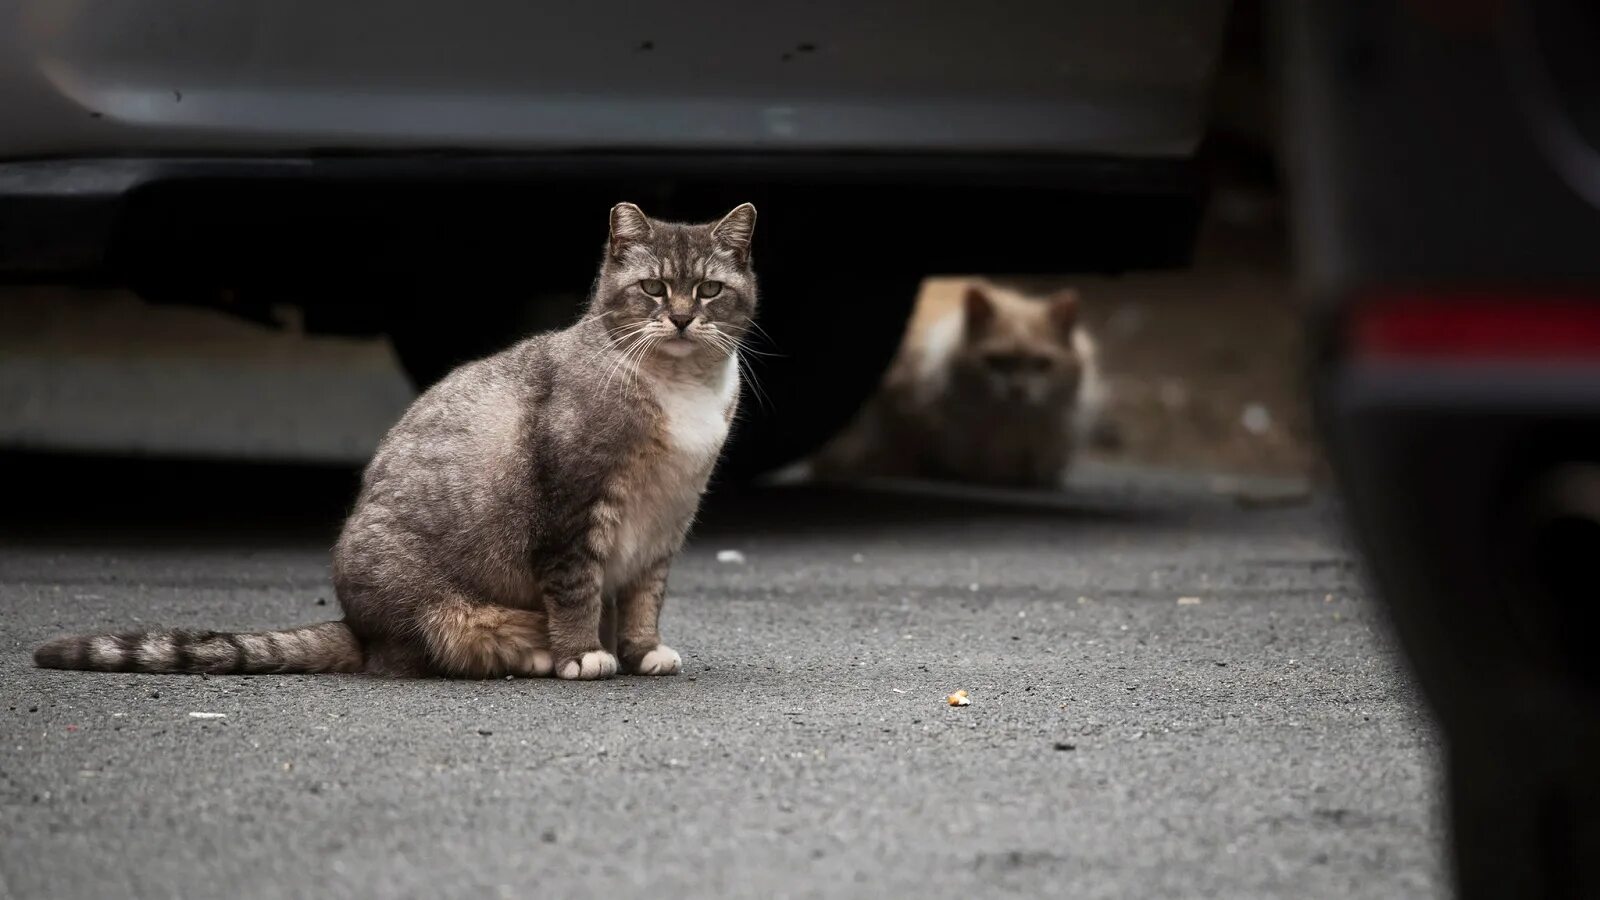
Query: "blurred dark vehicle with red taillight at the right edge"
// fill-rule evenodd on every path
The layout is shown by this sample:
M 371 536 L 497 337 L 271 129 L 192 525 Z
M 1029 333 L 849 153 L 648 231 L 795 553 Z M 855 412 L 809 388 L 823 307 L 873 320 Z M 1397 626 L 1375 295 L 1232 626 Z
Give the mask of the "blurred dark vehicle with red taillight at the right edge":
M 1285 3 L 1317 400 L 1462 897 L 1600 897 L 1600 8 Z

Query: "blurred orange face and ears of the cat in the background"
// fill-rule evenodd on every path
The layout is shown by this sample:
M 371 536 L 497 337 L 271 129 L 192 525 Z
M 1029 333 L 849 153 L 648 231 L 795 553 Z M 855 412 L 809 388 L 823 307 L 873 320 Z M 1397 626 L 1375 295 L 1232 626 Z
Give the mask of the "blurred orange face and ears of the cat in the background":
M 963 341 L 954 376 L 971 392 L 1006 407 L 1070 404 L 1083 376 L 1072 344 L 1078 299 L 1062 291 L 1027 307 L 995 303 L 979 287 L 963 299 Z

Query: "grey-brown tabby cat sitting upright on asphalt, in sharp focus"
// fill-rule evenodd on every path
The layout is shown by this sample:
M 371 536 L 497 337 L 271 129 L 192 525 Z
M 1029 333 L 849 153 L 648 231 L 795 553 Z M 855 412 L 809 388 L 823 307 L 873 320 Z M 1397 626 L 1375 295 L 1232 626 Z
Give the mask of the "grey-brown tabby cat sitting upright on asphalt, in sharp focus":
M 675 674 L 667 570 L 739 402 L 755 207 L 611 210 L 589 312 L 462 365 L 378 447 L 334 548 L 342 621 L 59 637 L 46 668 L 387 676 Z M 621 661 L 619 661 L 621 660 Z

